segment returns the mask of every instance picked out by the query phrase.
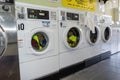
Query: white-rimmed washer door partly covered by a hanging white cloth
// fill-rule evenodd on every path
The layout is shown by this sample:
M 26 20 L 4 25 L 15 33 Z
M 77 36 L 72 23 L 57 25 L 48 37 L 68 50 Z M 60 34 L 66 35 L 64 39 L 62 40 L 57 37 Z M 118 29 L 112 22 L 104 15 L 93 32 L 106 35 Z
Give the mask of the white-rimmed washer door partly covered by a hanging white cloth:
M 95 33 L 93 33 L 91 30 L 87 31 L 87 40 L 89 44 L 95 45 L 98 43 L 100 39 L 100 30 L 97 26 L 95 26 Z

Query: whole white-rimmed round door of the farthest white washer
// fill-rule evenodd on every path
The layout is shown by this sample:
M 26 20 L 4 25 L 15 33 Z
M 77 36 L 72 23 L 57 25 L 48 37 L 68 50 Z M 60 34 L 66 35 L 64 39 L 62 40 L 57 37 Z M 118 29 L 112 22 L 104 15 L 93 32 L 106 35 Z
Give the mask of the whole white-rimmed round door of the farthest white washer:
M 110 27 L 104 27 L 102 32 L 102 39 L 104 42 L 107 42 L 110 40 L 112 36 L 112 29 Z

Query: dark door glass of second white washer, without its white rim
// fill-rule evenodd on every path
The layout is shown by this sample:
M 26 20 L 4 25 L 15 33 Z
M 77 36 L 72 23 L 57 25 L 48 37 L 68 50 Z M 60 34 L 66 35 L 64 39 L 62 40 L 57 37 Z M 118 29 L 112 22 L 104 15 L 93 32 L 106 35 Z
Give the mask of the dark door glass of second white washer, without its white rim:
M 80 40 L 80 33 L 78 28 L 71 28 L 67 33 L 67 43 L 71 48 L 77 47 Z

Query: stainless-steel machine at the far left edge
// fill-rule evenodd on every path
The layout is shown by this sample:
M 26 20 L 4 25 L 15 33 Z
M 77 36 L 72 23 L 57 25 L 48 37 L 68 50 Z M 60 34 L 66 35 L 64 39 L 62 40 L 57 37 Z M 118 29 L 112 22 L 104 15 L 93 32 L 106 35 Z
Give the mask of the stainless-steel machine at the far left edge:
M 0 80 L 20 80 L 14 0 L 0 0 Z

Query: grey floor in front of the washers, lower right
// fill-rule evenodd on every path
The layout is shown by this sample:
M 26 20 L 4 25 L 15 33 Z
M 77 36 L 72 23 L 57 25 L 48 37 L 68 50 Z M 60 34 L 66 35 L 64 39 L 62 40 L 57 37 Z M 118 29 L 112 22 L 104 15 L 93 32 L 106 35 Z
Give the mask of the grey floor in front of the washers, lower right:
M 120 53 L 61 80 L 120 80 Z

